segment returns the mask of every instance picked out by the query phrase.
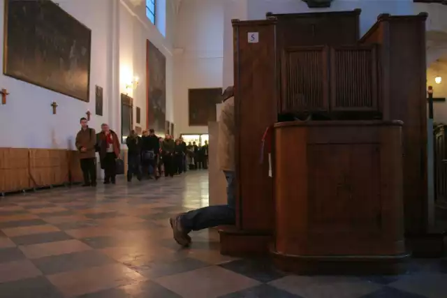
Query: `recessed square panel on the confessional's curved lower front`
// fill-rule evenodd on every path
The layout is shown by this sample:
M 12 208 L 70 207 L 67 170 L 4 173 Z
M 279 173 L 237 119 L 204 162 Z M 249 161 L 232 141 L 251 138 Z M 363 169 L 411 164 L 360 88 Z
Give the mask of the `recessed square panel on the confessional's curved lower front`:
M 379 144 L 309 144 L 308 214 L 312 232 L 381 232 L 379 147 Z

